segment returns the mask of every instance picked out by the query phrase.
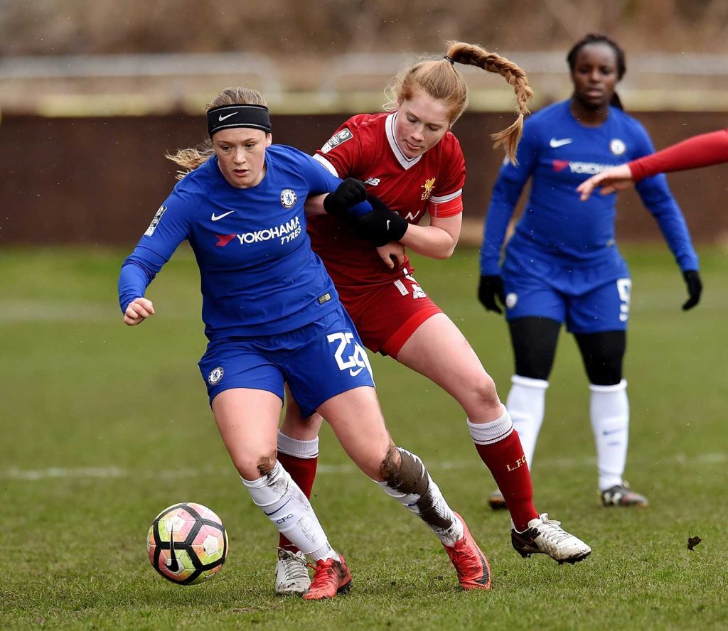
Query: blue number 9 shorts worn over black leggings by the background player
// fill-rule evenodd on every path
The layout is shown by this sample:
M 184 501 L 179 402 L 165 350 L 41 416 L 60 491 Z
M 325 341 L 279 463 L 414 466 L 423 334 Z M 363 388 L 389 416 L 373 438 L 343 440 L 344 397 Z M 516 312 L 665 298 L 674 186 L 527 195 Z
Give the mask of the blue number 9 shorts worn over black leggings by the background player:
M 583 267 L 507 257 L 502 274 L 507 320 L 545 317 L 570 333 L 627 329 L 632 280 L 621 257 Z

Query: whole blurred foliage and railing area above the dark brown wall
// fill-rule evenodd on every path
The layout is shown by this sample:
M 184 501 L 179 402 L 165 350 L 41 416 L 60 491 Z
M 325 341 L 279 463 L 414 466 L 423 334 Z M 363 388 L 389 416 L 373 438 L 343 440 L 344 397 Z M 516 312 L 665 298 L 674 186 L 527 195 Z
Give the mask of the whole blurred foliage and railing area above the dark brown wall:
M 191 113 L 245 83 L 279 113 L 372 110 L 405 60 L 449 39 L 526 69 L 538 107 L 569 94 L 566 52 L 589 32 L 627 52 L 628 107 L 728 110 L 727 0 L 0 0 L 0 108 Z M 480 75 L 471 109 L 512 108 Z

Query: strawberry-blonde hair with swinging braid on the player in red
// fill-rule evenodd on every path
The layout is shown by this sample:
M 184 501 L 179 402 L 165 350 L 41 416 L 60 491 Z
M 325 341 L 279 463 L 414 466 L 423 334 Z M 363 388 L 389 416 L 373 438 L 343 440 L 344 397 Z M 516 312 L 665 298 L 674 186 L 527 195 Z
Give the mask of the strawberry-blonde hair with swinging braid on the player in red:
M 422 90 L 432 98 L 445 101 L 450 111 L 450 123 L 453 124 L 467 108 L 467 84 L 454 63 L 467 66 L 478 66 L 488 72 L 502 76 L 515 92 L 518 118 L 505 130 L 491 134 L 494 148 L 503 146 L 513 164 L 517 164 L 515 151 L 523 133 L 523 117 L 531 114 L 526 103 L 533 97 L 526 73 L 515 63 L 495 52 L 488 52 L 477 44 L 464 41 L 448 41 L 448 52 L 443 59 L 424 60 L 410 68 L 404 68 L 397 74 L 387 92 L 390 97 L 385 109 L 395 109 L 399 98 L 409 99 Z

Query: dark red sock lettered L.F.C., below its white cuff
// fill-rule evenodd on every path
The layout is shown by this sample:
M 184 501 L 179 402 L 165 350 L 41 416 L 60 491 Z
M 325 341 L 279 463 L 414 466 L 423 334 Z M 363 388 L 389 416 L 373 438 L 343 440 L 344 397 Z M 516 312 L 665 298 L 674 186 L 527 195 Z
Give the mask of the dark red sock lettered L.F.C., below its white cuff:
M 526 464 L 518 432 L 514 429 L 498 443 L 476 444 L 475 448 L 503 493 L 516 530 L 526 530 L 529 521 L 539 514 L 534 507 L 534 485 L 531 483 L 529 465 Z

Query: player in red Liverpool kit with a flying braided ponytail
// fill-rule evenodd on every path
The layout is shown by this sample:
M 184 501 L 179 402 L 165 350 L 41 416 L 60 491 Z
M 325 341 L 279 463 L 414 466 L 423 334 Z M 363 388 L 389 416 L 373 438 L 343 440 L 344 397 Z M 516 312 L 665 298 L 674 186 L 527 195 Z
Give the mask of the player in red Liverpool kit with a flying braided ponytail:
M 513 86 L 518 120 L 493 138 L 514 159 L 531 98 L 526 75 L 505 57 L 451 42 L 443 59 L 417 63 L 397 76 L 389 111 L 352 116 L 315 156 L 333 174 L 363 181 L 369 194 L 398 213 L 402 219 L 393 223 L 403 224 L 397 226 L 399 242 L 374 248 L 357 239 L 349 224 L 323 215 L 309 221 L 309 236 L 365 346 L 430 378 L 462 405 L 475 448 L 510 509 L 515 549 L 523 556 L 540 552 L 574 563 L 590 547 L 534 508 L 521 441 L 493 379 L 456 325 L 422 290 L 404 254 L 409 247 L 420 255 L 448 258 L 459 238 L 465 164 L 450 128 L 467 107 L 467 86 L 455 62 L 498 73 Z M 419 226 L 425 215 L 430 225 Z M 289 397 L 278 459 L 309 496 L 320 424 L 320 416 L 301 419 Z M 276 591 L 296 592 L 306 582 L 305 567 L 290 541 L 282 538 L 280 550 Z

